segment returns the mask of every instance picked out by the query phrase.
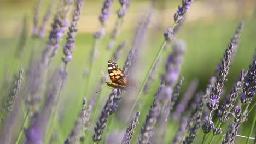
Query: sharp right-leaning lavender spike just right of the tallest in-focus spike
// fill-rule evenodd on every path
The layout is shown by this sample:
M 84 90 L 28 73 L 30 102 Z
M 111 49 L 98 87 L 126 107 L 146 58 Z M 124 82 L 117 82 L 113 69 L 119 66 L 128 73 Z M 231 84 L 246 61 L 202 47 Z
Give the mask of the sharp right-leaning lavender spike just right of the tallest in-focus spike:
M 239 79 L 236 80 L 235 85 L 230 91 L 230 95 L 225 98 L 225 102 L 220 107 L 218 111 L 218 118 L 220 122 L 226 122 L 229 120 L 229 116 L 231 114 L 231 109 L 234 107 L 234 103 L 236 102 L 236 98 L 238 97 L 239 93 L 242 90 L 242 86 L 244 85 L 244 79 L 247 75 L 246 70 L 241 70 L 241 75 Z

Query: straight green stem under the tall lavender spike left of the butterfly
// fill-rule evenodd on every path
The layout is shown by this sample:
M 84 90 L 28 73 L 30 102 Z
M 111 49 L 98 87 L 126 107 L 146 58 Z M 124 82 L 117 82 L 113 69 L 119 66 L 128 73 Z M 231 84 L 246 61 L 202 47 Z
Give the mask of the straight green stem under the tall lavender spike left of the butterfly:
M 64 65 L 64 70 L 63 70 L 63 73 L 66 74 L 66 69 L 67 69 L 67 65 L 65 64 Z M 53 130 L 54 130 L 54 125 L 55 125 L 55 122 L 56 122 L 56 118 L 57 118 L 57 115 L 56 115 L 56 111 L 59 107 L 59 101 L 60 101 L 60 95 L 62 93 L 62 87 L 63 87 L 63 83 L 64 83 L 64 79 L 62 79 L 63 77 L 61 77 L 61 86 L 60 86 L 60 91 L 57 95 L 57 102 L 56 102 L 56 105 L 54 105 L 53 107 L 53 112 L 51 112 L 51 115 L 50 115 L 50 119 L 51 119 L 51 123 L 49 123 L 49 125 L 51 125 L 51 127 L 49 127 L 48 125 L 48 128 L 49 128 L 49 133 L 47 134 L 46 136 L 46 140 L 45 140 L 45 143 L 50 143 L 50 139 L 51 139 L 51 134 L 53 133 Z

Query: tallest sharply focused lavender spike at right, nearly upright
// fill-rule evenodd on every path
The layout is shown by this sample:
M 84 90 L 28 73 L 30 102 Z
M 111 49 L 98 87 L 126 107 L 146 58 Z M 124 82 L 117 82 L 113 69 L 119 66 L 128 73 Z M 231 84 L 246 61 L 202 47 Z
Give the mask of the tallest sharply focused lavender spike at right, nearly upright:
M 219 106 L 219 98 L 223 93 L 224 82 L 227 81 L 226 76 L 228 75 L 230 59 L 233 53 L 234 44 L 230 43 L 228 49 L 225 51 L 224 58 L 222 60 L 222 65 L 220 65 L 219 75 L 217 76 L 217 81 L 212 88 L 210 101 L 211 103 L 207 103 L 207 107 L 210 111 L 214 111 L 218 109 Z

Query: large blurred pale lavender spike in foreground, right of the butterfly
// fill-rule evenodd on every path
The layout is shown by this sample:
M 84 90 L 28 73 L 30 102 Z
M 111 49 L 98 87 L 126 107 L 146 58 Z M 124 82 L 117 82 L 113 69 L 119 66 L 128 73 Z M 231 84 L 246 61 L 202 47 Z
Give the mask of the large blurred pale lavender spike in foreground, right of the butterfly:
M 177 91 L 174 92 L 173 87 L 178 80 L 179 71 L 181 70 L 181 64 L 183 62 L 183 55 L 185 53 L 184 45 L 185 44 L 183 43 L 183 41 L 177 41 L 176 43 L 174 43 L 173 52 L 168 56 L 166 61 L 166 72 L 164 75 L 162 75 L 162 83 L 165 84 L 165 92 L 159 98 L 162 105 L 162 111 L 158 120 L 158 128 L 156 129 L 156 138 L 162 137 L 165 133 L 168 116 L 170 114 L 170 111 L 173 109 L 174 104 L 176 103 L 176 100 L 179 96 L 179 90 L 184 80 L 184 78 L 182 77 L 177 86 L 179 89 L 176 89 Z M 160 139 L 154 140 L 154 143 L 159 141 Z M 160 141 L 160 143 L 163 142 Z

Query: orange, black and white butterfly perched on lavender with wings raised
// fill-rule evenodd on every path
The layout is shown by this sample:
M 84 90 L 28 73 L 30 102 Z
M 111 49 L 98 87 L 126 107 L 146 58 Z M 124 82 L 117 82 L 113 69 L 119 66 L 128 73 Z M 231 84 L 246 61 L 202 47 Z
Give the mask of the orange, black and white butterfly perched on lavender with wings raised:
M 109 74 L 110 80 L 112 81 L 112 82 L 106 82 L 108 86 L 113 88 L 123 89 L 123 90 L 133 89 L 133 88 L 137 89 L 134 83 L 132 83 L 124 74 L 124 71 L 121 70 L 118 67 L 117 63 L 112 60 L 108 61 L 108 74 Z

